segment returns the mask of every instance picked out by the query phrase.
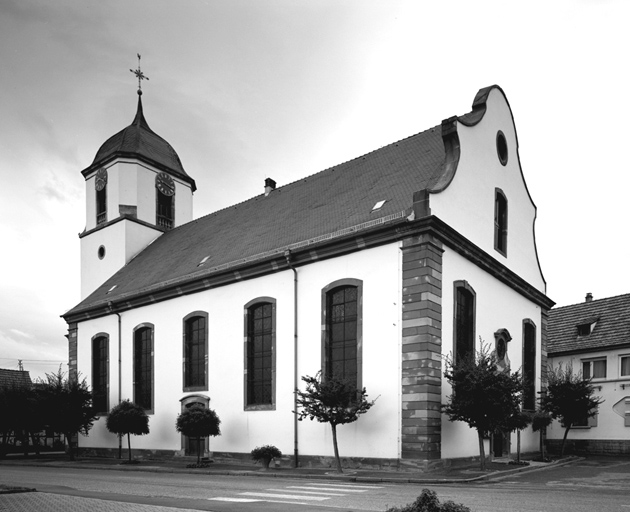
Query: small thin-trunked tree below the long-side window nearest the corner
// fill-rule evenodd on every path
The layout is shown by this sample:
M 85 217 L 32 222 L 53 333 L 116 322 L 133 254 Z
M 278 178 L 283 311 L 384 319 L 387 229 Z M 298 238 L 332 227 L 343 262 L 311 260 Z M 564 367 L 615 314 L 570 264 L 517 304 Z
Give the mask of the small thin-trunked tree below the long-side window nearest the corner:
M 298 412 L 298 420 L 305 418 L 320 423 L 330 423 L 333 437 L 333 448 L 337 472 L 343 473 L 339 448 L 337 446 L 337 425 L 352 423 L 359 419 L 374 405 L 376 400 L 368 402 L 365 388 L 359 390 L 356 384 L 336 377 L 322 379 L 322 373 L 315 377 L 304 376 L 306 391 L 296 389 L 297 404 L 302 408 Z

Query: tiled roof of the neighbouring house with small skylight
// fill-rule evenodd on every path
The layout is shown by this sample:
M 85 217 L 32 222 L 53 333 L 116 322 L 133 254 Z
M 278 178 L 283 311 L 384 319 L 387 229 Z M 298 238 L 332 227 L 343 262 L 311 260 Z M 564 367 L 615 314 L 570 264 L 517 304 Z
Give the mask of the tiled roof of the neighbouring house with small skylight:
M 578 325 L 595 324 L 578 335 Z M 630 294 L 582 302 L 549 312 L 550 355 L 630 345 Z

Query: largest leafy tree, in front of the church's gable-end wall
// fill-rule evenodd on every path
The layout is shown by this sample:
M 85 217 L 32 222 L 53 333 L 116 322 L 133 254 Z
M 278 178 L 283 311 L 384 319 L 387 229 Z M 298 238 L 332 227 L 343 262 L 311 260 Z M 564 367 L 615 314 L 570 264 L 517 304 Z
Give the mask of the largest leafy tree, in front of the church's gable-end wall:
M 481 469 L 486 469 L 484 438 L 493 432 L 513 430 L 510 421 L 520 413 L 522 379 L 518 372 L 499 372 L 496 358 L 481 342 L 474 356 L 453 363 L 446 359 L 444 376 L 452 387 L 442 405 L 451 421 L 463 421 L 477 430 Z

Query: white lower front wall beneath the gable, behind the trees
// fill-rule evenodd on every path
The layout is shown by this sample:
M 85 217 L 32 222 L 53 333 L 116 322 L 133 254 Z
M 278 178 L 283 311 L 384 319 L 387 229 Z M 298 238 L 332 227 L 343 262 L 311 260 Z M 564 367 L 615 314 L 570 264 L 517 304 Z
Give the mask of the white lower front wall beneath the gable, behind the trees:
M 453 353 L 453 283 L 466 280 L 476 294 L 475 335 L 477 349 L 479 338 L 494 350 L 494 333 L 505 328 L 512 341 L 508 343 L 507 355 L 512 371 L 521 369 L 523 361 L 523 320 L 531 319 L 536 324 L 536 391 L 540 391 L 541 364 L 541 310 L 540 307 L 491 277 L 479 267 L 453 250 L 446 248 L 442 260 L 442 353 Z M 443 363 L 444 364 L 444 363 Z M 451 387 L 446 380 L 442 384 L 442 401 L 446 403 Z M 521 451 L 538 450 L 538 434 L 527 428 L 521 434 Z M 512 435 L 512 452 L 516 452 L 516 434 Z M 487 453 L 487 452 L 486 452 Z M 466 423 L 451 422 L 442 416 L 442 457 L 467 457 L 479 454 L 476 430 Z

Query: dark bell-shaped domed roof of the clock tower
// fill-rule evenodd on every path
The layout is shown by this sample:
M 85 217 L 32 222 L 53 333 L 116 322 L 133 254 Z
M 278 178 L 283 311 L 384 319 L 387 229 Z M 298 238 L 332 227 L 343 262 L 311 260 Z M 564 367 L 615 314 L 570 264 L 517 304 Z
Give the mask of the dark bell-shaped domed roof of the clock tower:
M 138 96 L 138 110 L 133 122 L 104 142 L 97 151 L 92 165 L 85 169 L 83 174 L 89 174 L 117 156 L 146 160 L 148 163 L 160 169 L 168 170 L 173 175 L 191 183 L 193 191 L 196 188 L 195 181 L 184 171 L 179 156 L 173 147 L 149 128 L 142 111 L 141 96 Z

